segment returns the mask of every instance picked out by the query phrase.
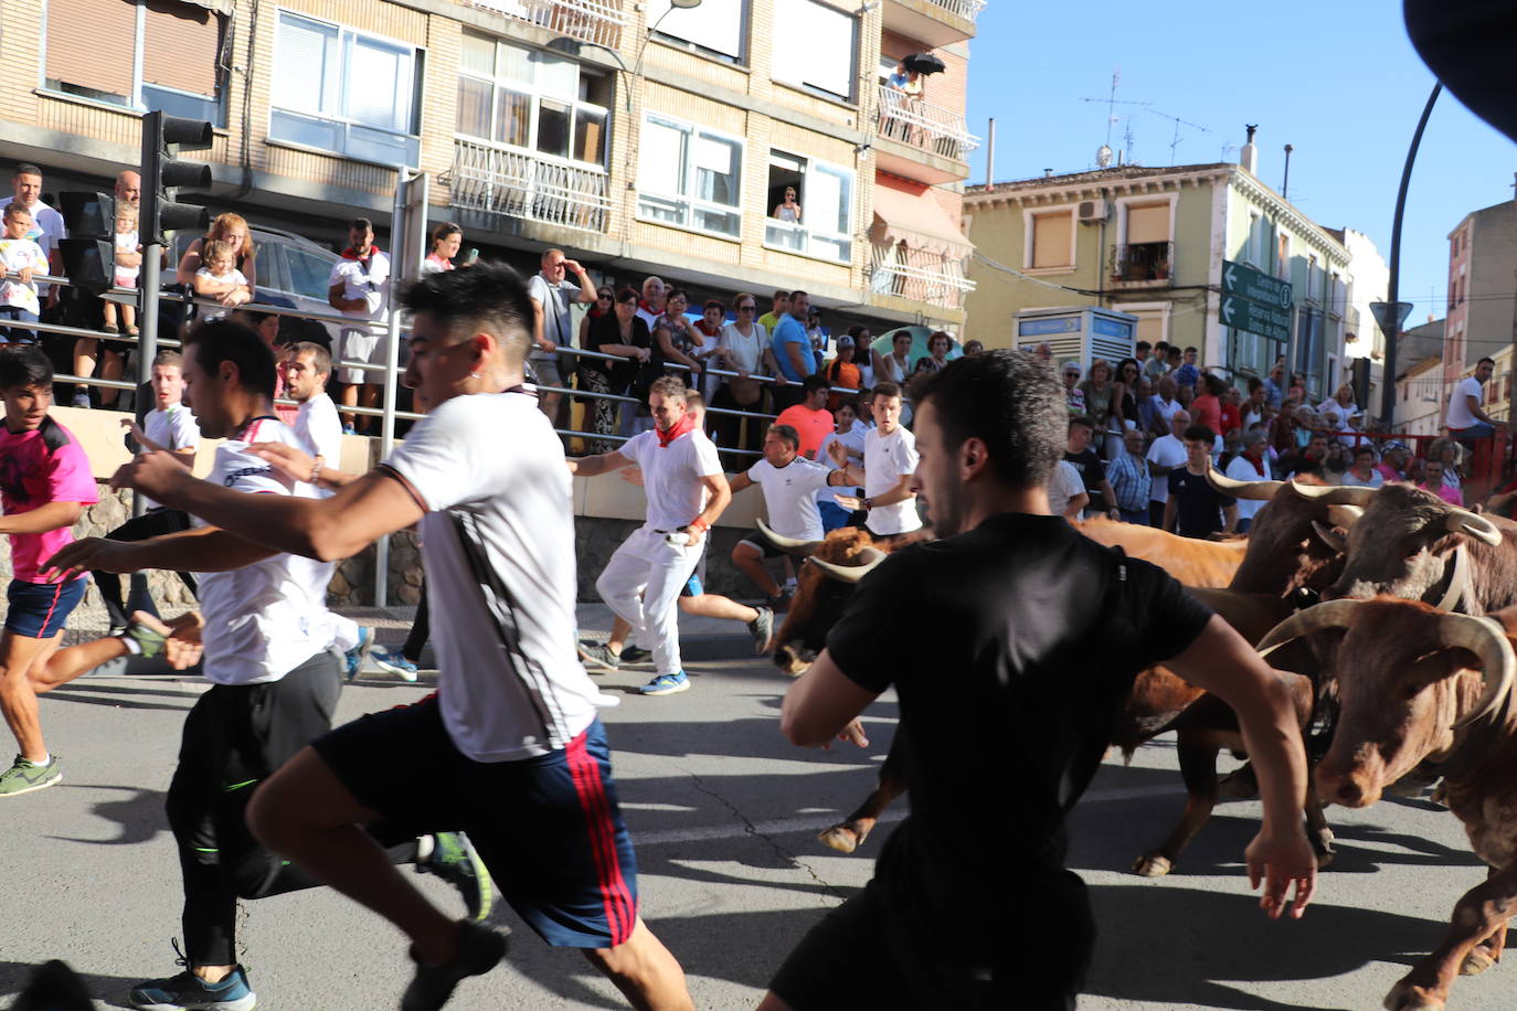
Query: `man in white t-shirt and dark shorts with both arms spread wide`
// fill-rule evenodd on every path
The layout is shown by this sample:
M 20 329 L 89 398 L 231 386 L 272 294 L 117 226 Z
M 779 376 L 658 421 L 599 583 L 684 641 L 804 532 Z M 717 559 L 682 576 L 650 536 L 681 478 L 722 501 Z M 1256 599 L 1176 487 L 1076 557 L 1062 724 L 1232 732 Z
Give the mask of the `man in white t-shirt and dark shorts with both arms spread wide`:
M 848 476 L 840 468 L 806 459 L 799 452 L 799 432 L 789 424 L 771 424 L 763 437 L 763 459 L 733 477 L 733 494 L 758 485 L 769 514 L 769 529 L 798 541 L 819 541 L 827 534 L 822 531 L 816 496 L 828 487 L 846 487 Z M 769 597 L 771 608 L 783 608 L 789 602 L 780 584 L 763 567 L 763 559 L 783 555 L 763 531 L 754 531 L 733 547 L 733 564 Z

